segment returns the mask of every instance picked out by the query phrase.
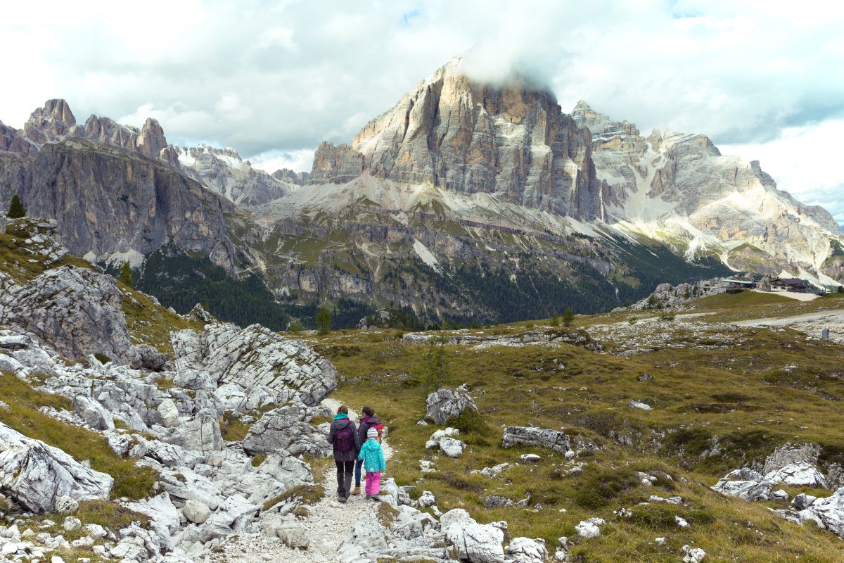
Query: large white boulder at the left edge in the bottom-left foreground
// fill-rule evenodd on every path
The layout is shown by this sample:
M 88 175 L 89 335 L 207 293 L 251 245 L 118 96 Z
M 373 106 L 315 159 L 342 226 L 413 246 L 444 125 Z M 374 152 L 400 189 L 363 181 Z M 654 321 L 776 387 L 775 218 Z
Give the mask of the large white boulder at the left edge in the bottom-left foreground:
M 57 512 L 57 501 L 107 500 L 114 479 L 44 442 L 0 423 L 0 490 L 32 512 Z

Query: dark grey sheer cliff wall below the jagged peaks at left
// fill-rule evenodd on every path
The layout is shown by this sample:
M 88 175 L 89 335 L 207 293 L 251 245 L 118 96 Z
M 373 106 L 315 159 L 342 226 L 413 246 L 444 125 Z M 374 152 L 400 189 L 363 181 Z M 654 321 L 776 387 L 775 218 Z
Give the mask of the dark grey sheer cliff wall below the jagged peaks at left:
M 78 255 L 145 254 L 175 241 L 234 270 L 257 239 L 251 217 L 233 203 L 127 149 L 71 138 L 45 144 L 34 158 L 7 154 L 0 171 L 4 199 L 17 193 L 29 214 L 56 219 Z

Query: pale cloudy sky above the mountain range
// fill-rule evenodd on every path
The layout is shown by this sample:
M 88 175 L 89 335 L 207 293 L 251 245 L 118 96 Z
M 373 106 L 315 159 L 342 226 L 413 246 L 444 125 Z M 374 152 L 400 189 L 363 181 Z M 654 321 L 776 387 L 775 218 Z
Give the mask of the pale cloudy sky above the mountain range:
M 704 133 L 844 223 L 844 8 L 837 3 L 178 0 L 3 3 L 0 120 L 50 98 L 170 143 L 310 170 L 451 57 L 512 69 L 616 119 Z

